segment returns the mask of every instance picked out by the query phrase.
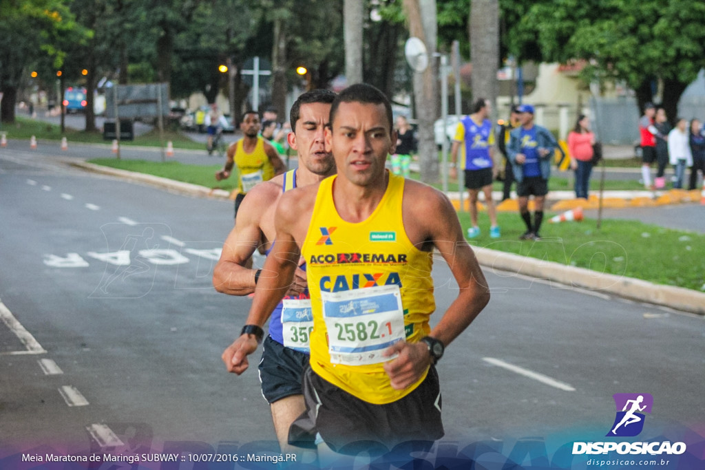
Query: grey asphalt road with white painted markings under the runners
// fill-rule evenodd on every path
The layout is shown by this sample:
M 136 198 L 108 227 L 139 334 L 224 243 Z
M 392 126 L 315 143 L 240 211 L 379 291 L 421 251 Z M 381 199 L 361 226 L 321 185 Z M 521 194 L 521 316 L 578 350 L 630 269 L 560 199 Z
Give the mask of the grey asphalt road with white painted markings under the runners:
M 47 449 L 272 447 L 257 373 L 220 359 L 250 304 L 211 285 L 231 204 L 0 151 L 1 468 Z M 603 440 L 618 392 L 654 397 L 640 439 L 702 442 L 701 317 L 485 272 L 491 302 L 439 364 L 441 445 L 539 440 L 550 457 Z M 440 259 L 434 281 L 442 312 Z

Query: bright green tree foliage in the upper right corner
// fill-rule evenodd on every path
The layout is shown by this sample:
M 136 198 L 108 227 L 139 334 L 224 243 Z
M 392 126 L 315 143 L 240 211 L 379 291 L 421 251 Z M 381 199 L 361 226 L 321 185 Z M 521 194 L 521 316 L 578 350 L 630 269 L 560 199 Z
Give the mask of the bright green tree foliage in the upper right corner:
M 622 80 L 637 92 L 639 108 L 654 100 L 661 81 L 662 103 L 674 120 L 680 95 L 705 66 L 704 17 L 705 4 L 697 0 L 539 0 L 509 36 L 517 55 L 527 37 L 538 37 L 544 60 L 584 59 L 586 80 Z

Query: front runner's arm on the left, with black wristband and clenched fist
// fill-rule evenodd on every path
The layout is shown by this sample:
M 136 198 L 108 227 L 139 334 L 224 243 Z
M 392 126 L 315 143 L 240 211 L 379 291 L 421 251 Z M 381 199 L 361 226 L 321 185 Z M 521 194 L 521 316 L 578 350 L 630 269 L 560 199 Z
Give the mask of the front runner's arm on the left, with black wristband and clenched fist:
M 295 190 L 294 190 L 295 191 Z M 284 194 L 277 205 L 275 214 L 276 243 L 272 247 L 269 256 L 264 261 L 262 274 L 255 287 L 255 297 L 252 300 L 252 307 L 247 314 L 245 325 L 257 325 L 260 328 L 271 316 L 274 307 L 281 302 L 286 293 L 286 288 L 291 284 L 298 261 L 300 250 L 293 235 L 296 224 L 300 221 L 299 209 L 290 204 Z M 257 339 L 254 335 L 240 335 L 222 354 L 221 359 L 226 365 L 228 372 L 238 375 L 245 372 L 249 366 L 247 355 L 257 350 Z

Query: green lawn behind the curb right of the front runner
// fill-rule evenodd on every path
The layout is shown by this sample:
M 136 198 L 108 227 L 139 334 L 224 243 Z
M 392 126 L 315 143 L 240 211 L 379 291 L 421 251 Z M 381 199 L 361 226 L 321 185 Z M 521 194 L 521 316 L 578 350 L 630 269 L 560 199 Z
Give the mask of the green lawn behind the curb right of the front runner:
M 676 285 L 693 290 L 705 287 L 705 235 L 671 230 L 638 221 L 603 219 L 548 223 L 555 214 L 546 212 L 541 225 L 541 240 L 519 240 L 526 226 L 518 214 L 499 213 L 502 237 L 489 237 L 489 217 L 479 214 L 482 234 L 470 240 L 472 245 L 502 252 L 530 256 L 568 266 Z M 470 214 L 458 214 L 463 230 L 470 227 Z

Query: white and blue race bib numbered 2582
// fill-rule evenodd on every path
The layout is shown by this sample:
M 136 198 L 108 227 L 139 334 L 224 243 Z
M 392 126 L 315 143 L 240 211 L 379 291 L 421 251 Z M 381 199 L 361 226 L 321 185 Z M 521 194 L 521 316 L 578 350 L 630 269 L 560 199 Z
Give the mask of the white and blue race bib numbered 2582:
M 405 339 L 398 285 L 321 292 L 331 363 L 362 366 L 396 356 L 382 352 Z

